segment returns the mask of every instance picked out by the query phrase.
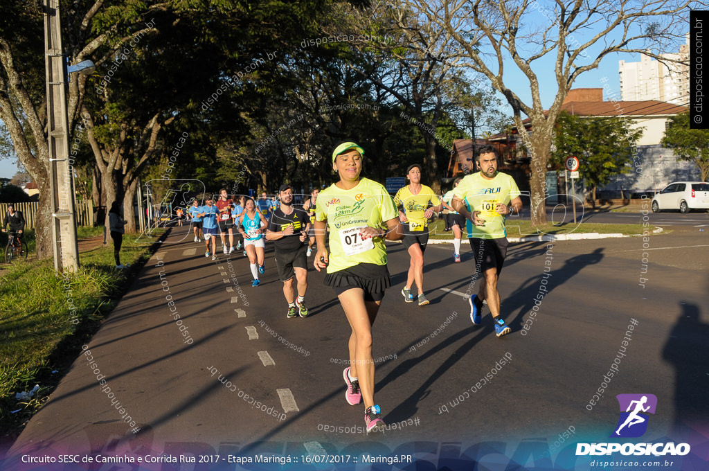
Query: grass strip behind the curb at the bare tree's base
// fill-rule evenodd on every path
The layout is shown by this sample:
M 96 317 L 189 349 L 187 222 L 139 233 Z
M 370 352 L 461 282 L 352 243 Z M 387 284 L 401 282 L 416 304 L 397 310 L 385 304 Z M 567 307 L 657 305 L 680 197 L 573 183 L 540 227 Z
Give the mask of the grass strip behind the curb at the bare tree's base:
M 430 237 L 435 239 L 452 239 L 453 233 L 444 232 L 445 223 L 442 219 L 437 219 L 432 224 L 429 224 Z M 569 234 L 569 233 L 591 233 L 597 232 L 601 234 L 622 233 L 625 235 L 642 234 L 642 224 L 601 224 L 601 223 L 582 223 L 574 224 L 563 223 L 554 225 L 551 223 L 544 226 L 532 227 L 530 221 L 509 218 L 507 221 L 507 236 L 508 237 L 523 237 L 525 235 L 544 235 L 544 234 Z M 465 236 L 465 231 L 463 231 Z

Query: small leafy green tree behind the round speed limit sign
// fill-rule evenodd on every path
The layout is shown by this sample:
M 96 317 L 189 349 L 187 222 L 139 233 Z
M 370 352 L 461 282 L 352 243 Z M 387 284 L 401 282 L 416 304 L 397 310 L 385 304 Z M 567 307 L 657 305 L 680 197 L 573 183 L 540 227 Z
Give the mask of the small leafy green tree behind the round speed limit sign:
M 642 135 L 642 128 L 631 128 L 623 118 L 584 118 L 562 111 L 554 128 L 552 162 L 561 164 L 575 155 L 591 189 L 591 201 L 596 205 L 596 189 L 610 177 L 630 172 L 628 165 L 633 148 Z

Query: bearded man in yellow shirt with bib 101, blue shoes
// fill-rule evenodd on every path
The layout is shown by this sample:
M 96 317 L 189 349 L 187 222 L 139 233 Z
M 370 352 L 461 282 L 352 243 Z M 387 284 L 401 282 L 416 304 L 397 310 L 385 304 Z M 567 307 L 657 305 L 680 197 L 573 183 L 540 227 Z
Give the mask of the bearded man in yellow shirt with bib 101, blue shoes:
M 498 337 L 510 333 L 500 316 L 500 292 L 497 281 L 507 255 L 506 217 L 522 209 L 520 189 L 510 175 L 497 170 L 495 148 L 477 149 L 480 172 L 464 177 L 453 192 L 451 206 L 467 218 L 467 231 L 475 260 L 475 273 L 482 272 L 484 283 L 470 299 L 471 321 L 482 321 L 483 301 L 487 301 Z M 469 208 L 469 209 L 468 209 Z

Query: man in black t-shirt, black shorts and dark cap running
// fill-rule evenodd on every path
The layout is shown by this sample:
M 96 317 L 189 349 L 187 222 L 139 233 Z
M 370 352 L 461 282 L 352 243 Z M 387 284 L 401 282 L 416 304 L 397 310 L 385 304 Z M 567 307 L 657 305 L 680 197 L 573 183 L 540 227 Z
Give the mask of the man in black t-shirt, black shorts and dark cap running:
M 268 221 L 266 239 L 274 241 L 276 264 L 283 282 L 283 294 L 288 301 L 288 318 L 308 316 L 303 297 L 308 289 L 308 228 L 310 220 L 306 211 L 294 208 L 293 189 L 289 185 L 279 188 L 281 206 L 274 209 Z M 295 296 L 293 278 L 298 281 L 298 297 Z M 297 314 L 296 314 L 297 309 Z

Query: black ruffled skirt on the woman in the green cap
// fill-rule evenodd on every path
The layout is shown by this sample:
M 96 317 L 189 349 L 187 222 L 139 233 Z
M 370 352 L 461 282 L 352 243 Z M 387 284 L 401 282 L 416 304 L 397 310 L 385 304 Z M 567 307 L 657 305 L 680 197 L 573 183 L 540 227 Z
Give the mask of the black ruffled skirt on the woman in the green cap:
M 391 286 L 391 279 L 386 265 L 360 263 L 339 272 L 328 273 L 325 275 L 325 285 L 333 287 L 337 296 L 348 289 L 361 288 L 364 301 L 381 301 L 384 299 L 384 290 Z

